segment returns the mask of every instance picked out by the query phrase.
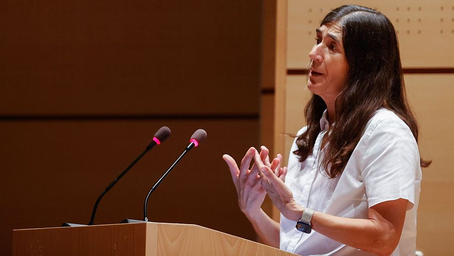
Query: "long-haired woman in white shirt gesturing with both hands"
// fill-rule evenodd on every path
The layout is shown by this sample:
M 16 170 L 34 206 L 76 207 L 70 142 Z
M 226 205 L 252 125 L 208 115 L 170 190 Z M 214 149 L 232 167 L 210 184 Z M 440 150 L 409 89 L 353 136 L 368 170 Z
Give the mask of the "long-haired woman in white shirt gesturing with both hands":
M 321 22 L 309 57 L 307 126 L 288 168 L 250 148 L 228 155 L 242 212 L 262 240 L 302 255 L 415 255 L 421 166 L 391 22 L 342 6 Z M 254 165 L 249 170 L 251 161 Z M 268 193 L 280 224 L 261 204 Z

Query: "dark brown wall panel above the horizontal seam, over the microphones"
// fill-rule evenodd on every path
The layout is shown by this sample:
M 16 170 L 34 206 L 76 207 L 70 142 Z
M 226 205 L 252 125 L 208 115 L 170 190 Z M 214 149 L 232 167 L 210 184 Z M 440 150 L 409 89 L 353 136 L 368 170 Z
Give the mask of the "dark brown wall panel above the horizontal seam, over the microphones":
M 260 15 L 260 1 L 4 1 L 0 115 L 257 114 Z

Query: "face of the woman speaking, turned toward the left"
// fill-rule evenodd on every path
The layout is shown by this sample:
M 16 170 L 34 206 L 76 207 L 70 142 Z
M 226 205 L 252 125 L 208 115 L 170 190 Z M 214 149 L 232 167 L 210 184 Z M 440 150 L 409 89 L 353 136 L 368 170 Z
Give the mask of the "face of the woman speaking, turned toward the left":
M 317 43 L 309 53 L 311 68 L 307 86 L 326 102 L 334 100 L 344 89 L 349 65 L 345 58 L 341 27 L 337 23 L 327 24 L 316 31 Z

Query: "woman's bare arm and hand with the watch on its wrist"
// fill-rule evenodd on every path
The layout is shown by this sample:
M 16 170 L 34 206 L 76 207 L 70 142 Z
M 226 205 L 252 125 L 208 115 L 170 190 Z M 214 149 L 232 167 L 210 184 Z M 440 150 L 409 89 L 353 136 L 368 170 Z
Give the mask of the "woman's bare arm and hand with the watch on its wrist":
M 257 156 L 254 161 L 259 167 L 262 187 L 287 219 L 299 221 L 304 207 L 295 202 L 282 177 L 276 176 Z M 375 254 L 389 255 L 399 243 L 407 202 L 401 198 L 378 203 L 369 209 L 368 219 L 349 219 L 315 212 L 311 225 L 317 232 L 338 242 Z

